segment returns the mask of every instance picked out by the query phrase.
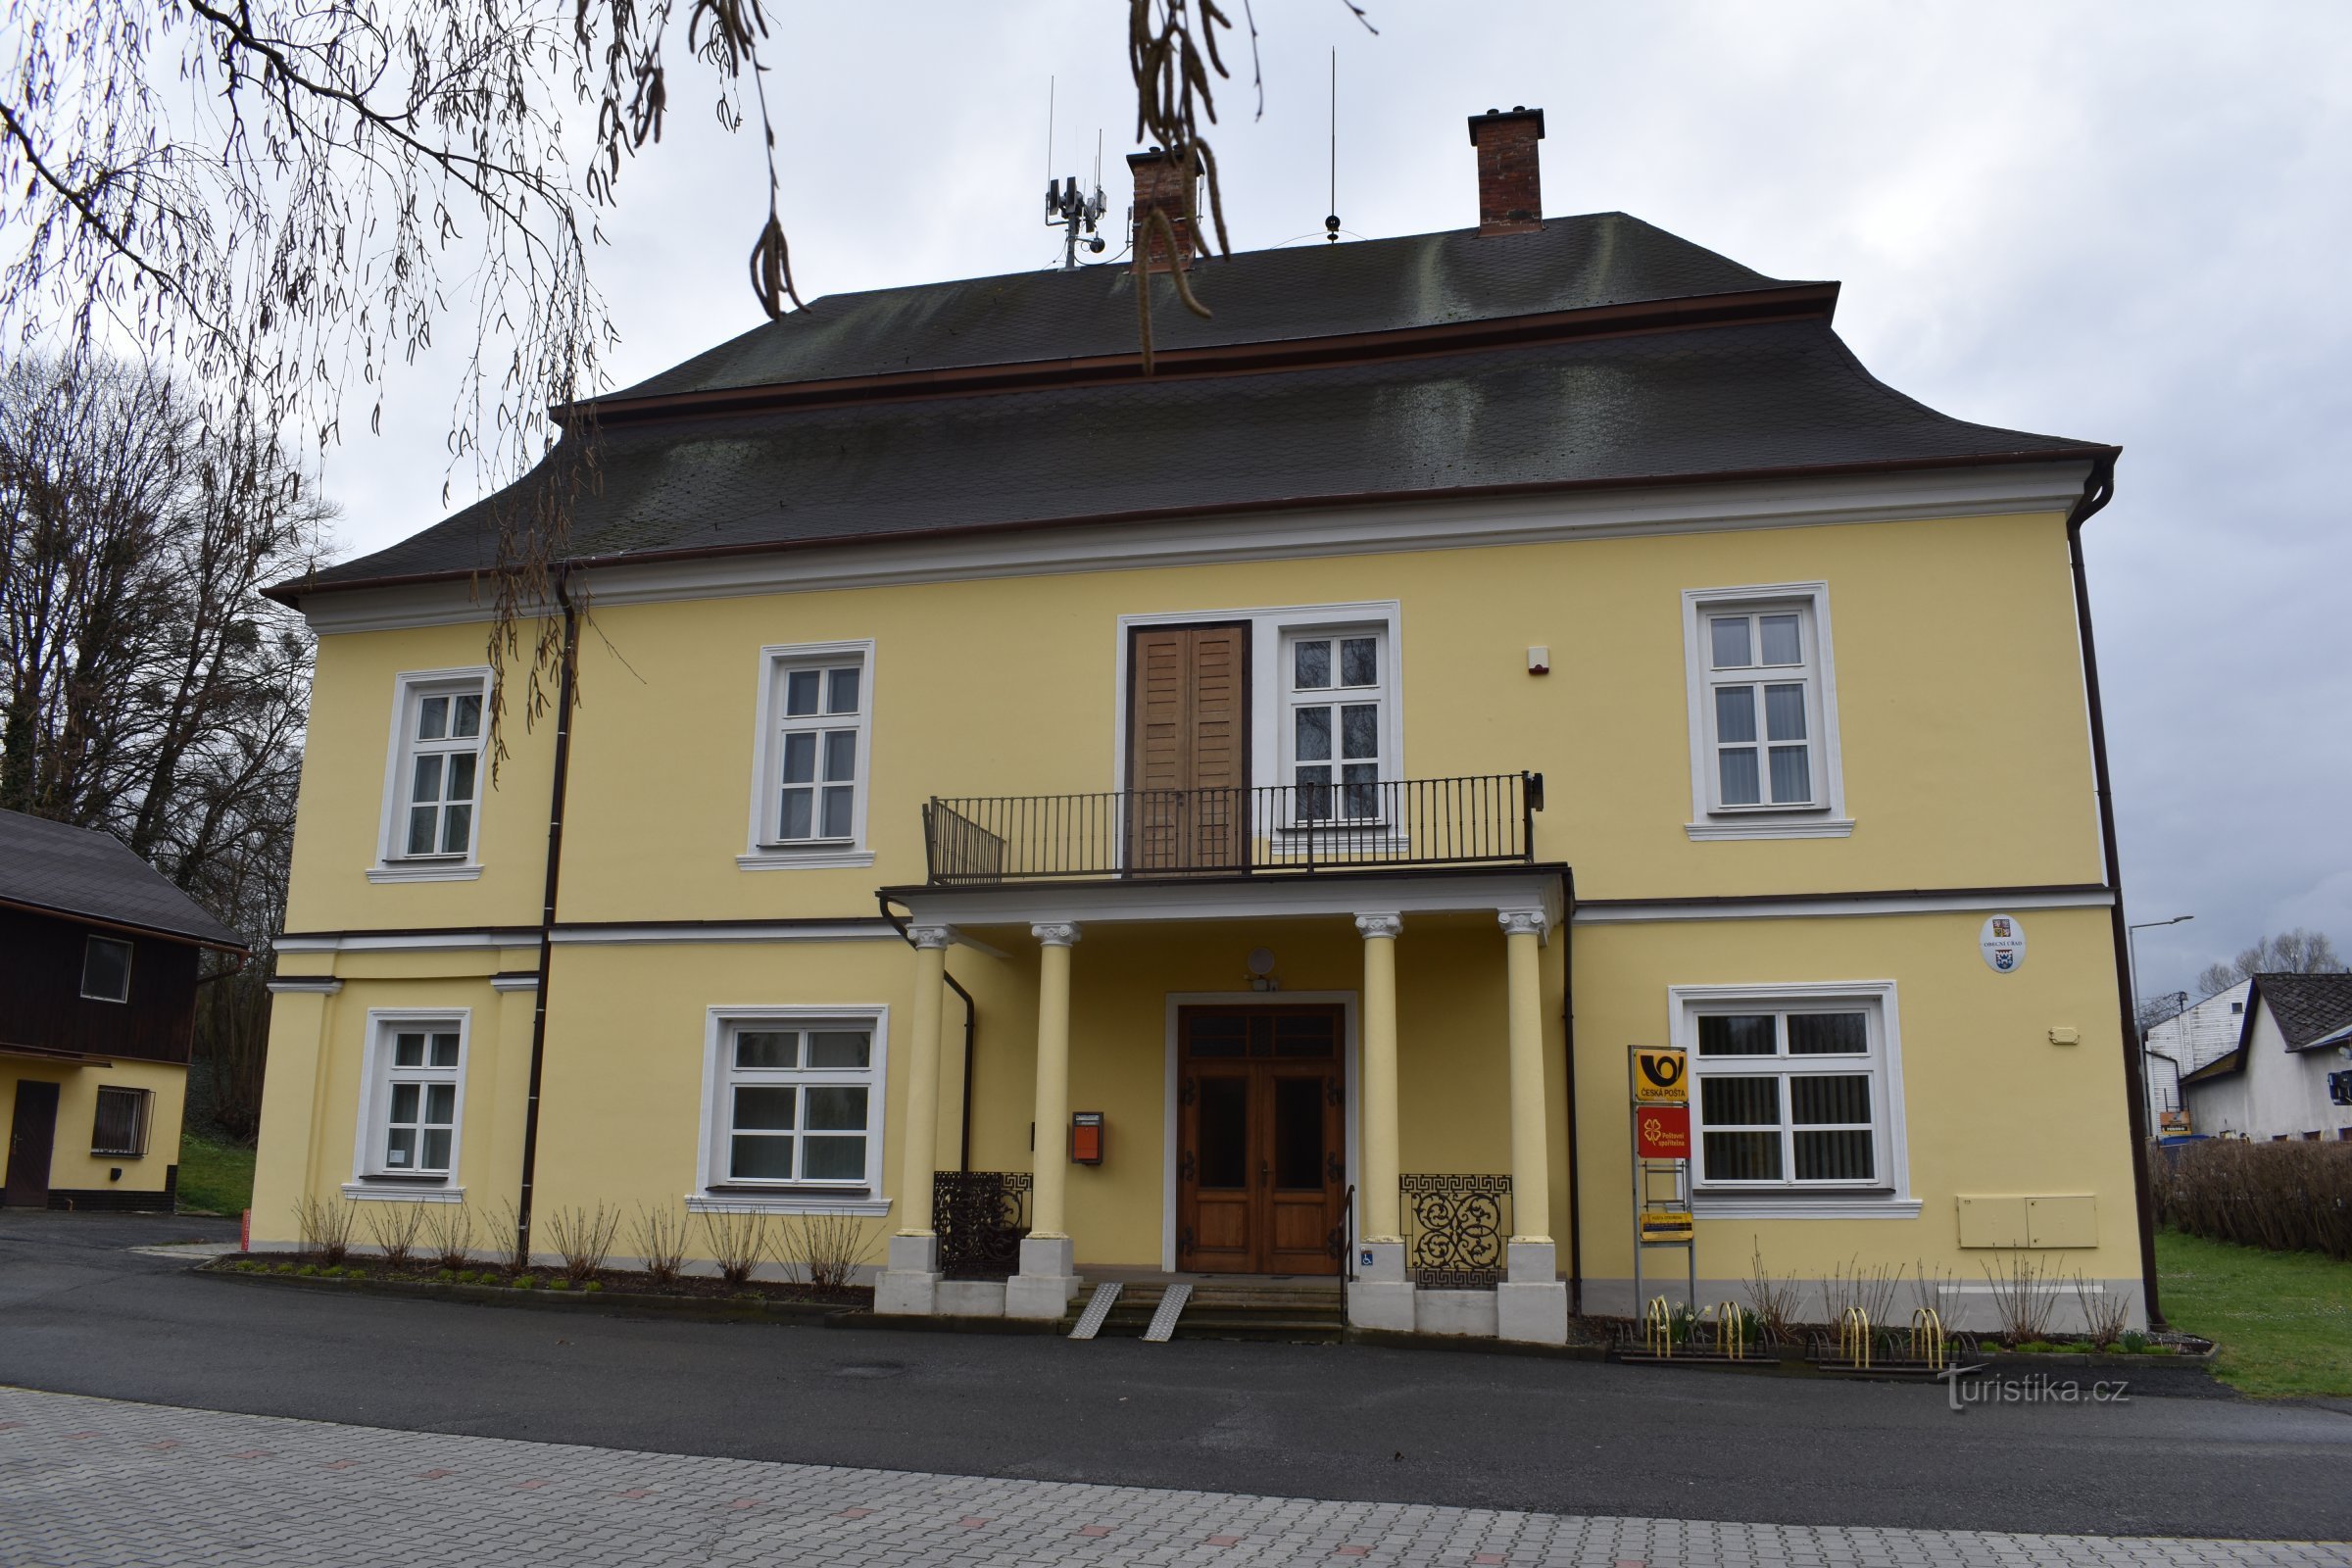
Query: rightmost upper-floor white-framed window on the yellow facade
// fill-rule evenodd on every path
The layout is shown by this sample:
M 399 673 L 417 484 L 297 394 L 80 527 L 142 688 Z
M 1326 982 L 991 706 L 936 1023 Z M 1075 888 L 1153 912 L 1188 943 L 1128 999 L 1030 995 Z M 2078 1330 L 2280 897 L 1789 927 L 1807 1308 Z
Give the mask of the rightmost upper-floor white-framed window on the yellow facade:
M 1682 595 L 1693 839 L 1846 837 L 1825 583 Z

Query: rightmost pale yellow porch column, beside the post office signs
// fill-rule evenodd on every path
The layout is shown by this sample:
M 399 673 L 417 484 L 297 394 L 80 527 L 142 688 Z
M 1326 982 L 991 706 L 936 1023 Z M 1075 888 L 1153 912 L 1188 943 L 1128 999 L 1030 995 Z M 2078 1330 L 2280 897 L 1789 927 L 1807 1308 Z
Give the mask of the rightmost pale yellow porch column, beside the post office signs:
M 1503 987 L 1510 1020 L 1510 1206 L 1517 1232 L 1494 1291 L 1496 1333 L 1564 1345 L 1569 1286 L 1552 1246 L 1552 1159 L 1543 1088 L 1543 931 L 1534 910 L 1503 910 Z

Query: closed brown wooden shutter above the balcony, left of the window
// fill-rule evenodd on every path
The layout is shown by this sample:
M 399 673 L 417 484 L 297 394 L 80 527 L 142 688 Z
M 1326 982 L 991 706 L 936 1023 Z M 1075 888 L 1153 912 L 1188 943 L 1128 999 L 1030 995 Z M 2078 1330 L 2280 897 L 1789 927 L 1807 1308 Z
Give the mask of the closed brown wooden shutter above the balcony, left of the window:
M 1129 870 L 1247 870 L 1249 625 L 1141 625 L 1127 670 Z

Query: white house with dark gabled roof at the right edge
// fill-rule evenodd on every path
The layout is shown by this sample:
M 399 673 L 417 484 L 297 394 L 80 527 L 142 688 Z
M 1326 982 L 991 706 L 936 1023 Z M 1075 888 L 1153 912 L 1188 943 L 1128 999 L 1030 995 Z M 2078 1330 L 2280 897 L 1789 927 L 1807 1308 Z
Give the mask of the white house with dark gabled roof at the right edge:
M 2199 1133 L 2352 1140 L 2352 973 L 2256 976 L 2237 1046 L 2183 1088 Z

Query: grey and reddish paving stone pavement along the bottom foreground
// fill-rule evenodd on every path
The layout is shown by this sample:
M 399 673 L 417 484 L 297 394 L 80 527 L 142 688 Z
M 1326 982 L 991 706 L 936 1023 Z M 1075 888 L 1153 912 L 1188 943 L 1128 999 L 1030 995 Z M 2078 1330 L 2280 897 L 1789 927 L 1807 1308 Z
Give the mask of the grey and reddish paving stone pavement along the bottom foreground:
M 0 1389 L 0 1566 L 2352 1568 L 2321 1542 L 1578 1519 L 630 1453 Z

